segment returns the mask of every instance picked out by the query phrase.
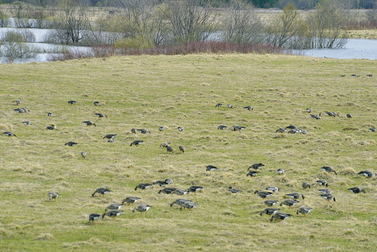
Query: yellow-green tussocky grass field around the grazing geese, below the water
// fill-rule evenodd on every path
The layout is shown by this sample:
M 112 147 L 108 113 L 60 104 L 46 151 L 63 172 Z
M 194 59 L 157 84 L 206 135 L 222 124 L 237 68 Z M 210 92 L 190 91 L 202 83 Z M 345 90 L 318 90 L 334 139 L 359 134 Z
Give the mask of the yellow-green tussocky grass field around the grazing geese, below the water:
M 0 65 L 0 129 L 17 135 L 0 135 L 0 251 L 373 251 L 377 179 L 356 174 L 377 172 L 377 132 L 368 131 L 377 126 L 376 66 L 372 60 L 242 54 Z M 247 105 L 253 111 L 242 108 Z M 305 108 L 322 118 L 314 120 Z M 99 120 L 96 112 L 108 118 Z M 22 124 L 26 120 L 32 125 Z M 86 120 L 97 127 L 81 123 Z M 52 123 L 57 129 L 45 129 Z M 220 124 L 246 129 L 219 131 Z M 290 124 L 308 134 L 275 133 Z M 131 134 L 131 128 L 152 134 Z M 118 134 L 116 142 L 103 140 L 106 134 Z M 130 147 L 134 140 L 144 144 Z M 64 146 L 67 141 L 78 145 Z M 159 148 L 164 141 L 174 154 Z M 247 177 L 253 163 L 265 166 Z M 208 164 L 219 171 L 205 171 Z M 285 174 L 277 175 L 278 168 Z M 134 190 L 168 177 L 175 188 L 205 189 L 185 196 L 158 194 L 158 186 Z M 336 202 L 319 197 L 322 187 L 314 181 L 321 178 Z M 302 189 L 304 181 L 311 189 Z M 271 197 L 280 202 L 291 192 L 305 195 L 293 209 L 280 207 L 293 218 L 270 223 L 259 216 L 264 200 L 253 192 L 271 185 L 280 187 Z M 102 186 L 113 192 L 91 197 Z M 231 194 L 229 186 L 243 192 Z M 347 191 L 354 186 L 366 194 Z M 60 194 L 56 202 L 48 201 L 49 191 Z M 152 208 L 132 215 L 138 204 L 125 205 L 115 220 L 88 223 L 89 214 L 103 214 L 127 196 Z M 199 206 L 170 208 L 177 198 Z M 314 210 L 296 217 L 302 205 Z

